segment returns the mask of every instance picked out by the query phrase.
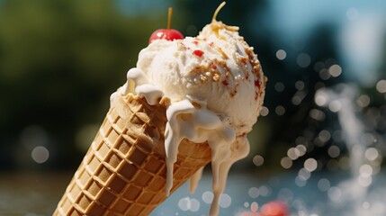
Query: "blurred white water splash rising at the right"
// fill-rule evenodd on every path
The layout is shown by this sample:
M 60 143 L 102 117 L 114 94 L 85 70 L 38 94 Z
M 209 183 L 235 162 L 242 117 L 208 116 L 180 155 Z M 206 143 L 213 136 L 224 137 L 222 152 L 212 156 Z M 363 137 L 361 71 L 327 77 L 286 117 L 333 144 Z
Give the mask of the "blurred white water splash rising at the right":
M 361 121 L 361 107 L 355 103 L 358 94 L 355 85 L 339 84 L 333 88 L 321 88 L 315 94 L 315 103 L 337 112 L 338 122 L 346 134 L 346 148 L 349 153 L 351 177 L 328 189 L 331 205 L 336 208 L 352 206 L 351 215 L 364 215 L 363 203 L 368 187 L 372 184 L 373 168 L 366 164 L 366 152 L 369 152 L 364 121 Z M 333 149 L 331 150 L 333 151 Z M 370 150 L 367 154 L 374 155 Z

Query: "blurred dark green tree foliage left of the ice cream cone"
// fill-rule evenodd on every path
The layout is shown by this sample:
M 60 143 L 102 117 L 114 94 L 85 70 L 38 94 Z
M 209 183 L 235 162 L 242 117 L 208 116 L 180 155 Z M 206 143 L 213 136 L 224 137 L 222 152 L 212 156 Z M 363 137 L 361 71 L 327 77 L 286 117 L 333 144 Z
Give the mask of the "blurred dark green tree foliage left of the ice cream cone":
M 151 32 L 166 23 L 157 14 L 117 9 L 108 0 L 1 2 L 0 166 L 12 163 L 4 149 L 13 150 L 29 125 L 40 125 L 58 149 L 72 151 L 76 130 L 103 120 L 109 95 Z

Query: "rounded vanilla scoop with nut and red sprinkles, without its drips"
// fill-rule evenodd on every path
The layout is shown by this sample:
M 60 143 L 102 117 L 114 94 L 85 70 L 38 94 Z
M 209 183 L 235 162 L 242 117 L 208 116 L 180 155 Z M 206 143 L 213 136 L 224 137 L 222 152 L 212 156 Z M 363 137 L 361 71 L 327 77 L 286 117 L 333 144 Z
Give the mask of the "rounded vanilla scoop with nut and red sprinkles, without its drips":
M 265 76 L 238 27 L 213 22 L 194 38 L 154 40 L 140 51 L 137 67 L 172 101 L 206 104 L 237 135 L 256 122 Z

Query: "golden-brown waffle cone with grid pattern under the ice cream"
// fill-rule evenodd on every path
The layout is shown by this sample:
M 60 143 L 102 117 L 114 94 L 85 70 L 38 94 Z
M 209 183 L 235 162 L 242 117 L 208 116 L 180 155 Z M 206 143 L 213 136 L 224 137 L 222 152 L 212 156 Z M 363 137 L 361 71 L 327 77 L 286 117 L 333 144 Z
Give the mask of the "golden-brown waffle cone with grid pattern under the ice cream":
M 54 215 L 148 215 L 166 199 L 166 107 L 117 96 Z M 211 161 L 207 143 L 184 139 L 175 191 Z

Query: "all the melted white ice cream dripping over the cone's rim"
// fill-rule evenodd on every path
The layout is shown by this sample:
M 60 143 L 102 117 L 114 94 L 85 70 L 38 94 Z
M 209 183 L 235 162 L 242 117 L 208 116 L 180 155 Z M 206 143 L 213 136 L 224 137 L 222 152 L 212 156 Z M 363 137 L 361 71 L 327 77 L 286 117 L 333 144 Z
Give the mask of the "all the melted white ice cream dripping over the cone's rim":
M 112 94 L 111 103 L 114 102 L 117 94 L 138 94 L 144 96 L 149 104 L 157 104 L 164 96 L 161 89 L 148 82 L 147 75 L 139 68 L 131 68 L 127 78 L 127 82 Z M 172 102 L 166 108 L 166 195 L 173 187 L 173 170 L 180 142 L 183 139 L 189 139 L 195 143 L 208 142 L 211 148 L 214 193 L 210 215 L 218 215 L 220 194 L 225 189 L 229 168 L 236 161 L 247 156 L 249 142 L 245 134 L 236 137 L 236 132 L 229 125 L 227 118 L 208 110 L 204 102 L 194 101 L 200 106 L 196 108 L 188 98 L 189 95 L 182 101 Z M 203 167 L 191 179 L 191 192 L 197 187 L 202 169 Z

